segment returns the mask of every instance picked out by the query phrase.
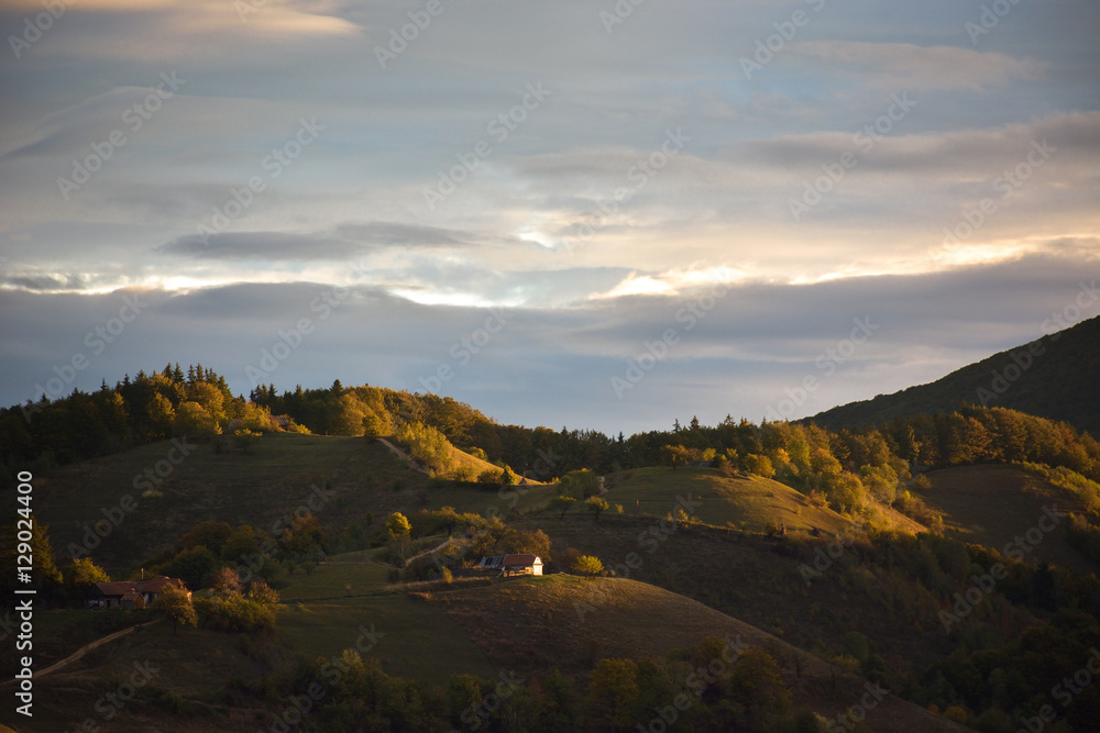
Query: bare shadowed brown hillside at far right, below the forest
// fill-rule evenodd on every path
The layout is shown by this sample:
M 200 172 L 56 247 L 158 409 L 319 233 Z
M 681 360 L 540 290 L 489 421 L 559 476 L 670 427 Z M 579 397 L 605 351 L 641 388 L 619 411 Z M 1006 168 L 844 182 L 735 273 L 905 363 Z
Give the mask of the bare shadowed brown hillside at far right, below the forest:
M 965 466 L 928 474 L 932 488 L 919 491 L 933 509 L 944 515 L 947 530 L 967 542 L 986 545 L 1004 554 L 1005 545 L 1027 530 L 1038 526 L 1044 507 L 1060 512 L 1080 512 L 1080 502 L 1068 491 L 1052 486 L 1018 466 Z M 1044 524 L 1049 526 L 1049 521 Z M 1047 560 L 1088 575 L 1100 570 L 1074 549 L 1065 536 L 1066 520 L 1050 533 L 1043 533 L 1027 563 Z M 1034 536 L 1034 535 L 1033 535 Z M 1030 545 L 1028 545 L 1030 546 Z

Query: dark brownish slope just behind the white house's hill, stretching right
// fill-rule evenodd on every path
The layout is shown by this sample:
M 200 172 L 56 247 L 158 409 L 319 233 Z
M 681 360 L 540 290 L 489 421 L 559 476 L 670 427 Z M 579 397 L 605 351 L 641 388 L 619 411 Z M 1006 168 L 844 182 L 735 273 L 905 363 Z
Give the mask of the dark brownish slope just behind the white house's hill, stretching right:
M 534 529 L 535 520 L 518 526 Z M 936 620 L 938 600 L 915 588 L 860 569 L 856 553 L 807 585 L 803 553 L 823 538 L 792 532 L 773 541 L 739 531 L 684 526 L 671 531 L 653 518 L 591 518 L 566 514 L 538 524 L 553 551 L 596 555 L 619 576 L 660 586 L 750 623 L 801 648 L 842 648 L 850 631 L 866 634 L 883 657 L 898 655 L 914 669 L 952 649 Z M 809 549 L 807 549 L 809 548 Z M 640 564 L 630 568 L 636 555 Z M 856 578 L 858 582 L 853 582 Z

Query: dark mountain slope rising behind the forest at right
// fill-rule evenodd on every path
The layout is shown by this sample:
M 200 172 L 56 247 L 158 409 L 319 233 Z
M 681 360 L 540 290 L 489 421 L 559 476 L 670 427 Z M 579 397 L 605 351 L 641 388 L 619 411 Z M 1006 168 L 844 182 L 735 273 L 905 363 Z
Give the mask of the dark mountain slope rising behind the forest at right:
M 1045 349 L 1035 356 L 1030 367 L 1007 390 L 986 407 L 1020 410 L 1052 420 L 1064 420 L 1078 430 L 1100 435 L 1100 316 L 1082 321 L 1071 329 L 1040 340 Z M 898 418 L 912 418 L 923 413 L 950 412 L 963 402 L 980 404 L 978 389 L 992 391 L 993 371 L 1009 376 L 1015 374 L 1012 358 L 1018 354 L 1024 362 L 1026 345 L 994 354 L 977 364 L 965 366 L 943 379 L 927 385 L 910 387 L 893 395 L 879 395 L 875 399 L 851 402 L 821 412 L 809 420 L 818 425 L 837 430 L 877 425 Z M 1028 355 L 1030 356 L 1030 355 Z M 993 392 L 994 395 L 997 392 Z

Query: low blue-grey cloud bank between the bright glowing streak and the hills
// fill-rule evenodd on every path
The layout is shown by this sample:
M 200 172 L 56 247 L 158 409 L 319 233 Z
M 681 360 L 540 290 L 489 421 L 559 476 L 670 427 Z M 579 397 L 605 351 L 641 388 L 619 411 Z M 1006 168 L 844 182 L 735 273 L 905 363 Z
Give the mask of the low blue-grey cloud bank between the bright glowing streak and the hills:
M 88 349 L 86 334 L 118 315 L 123 298 L 139 291 L 0 290 L 6 313 L 0 401 L 35 397 L 35 385 L 44 386 L 55 374 L 52 367 L 69 363 L 75 352 L 90 362 L 76 385 L 82 389 L 178 360 L 201 362 L 223 374 L 234 393 L 248 393 L 255 385 L 246 367 L 257 367 L 263 349 L 308 319 L 310 333 L 265 382 L 293 389 L 326 387 L 339 378 L 345 385 L 426 391 L 447 365 L 454 376 L 435 391 L 503 422 L 631 432 L 697 414 L 713 424 L 727 412 L 759 420 L 784 388 L 806 374 L 824 377 L 815 359 L 848 336 L 854 320 L 870 319 L 873 336 L 836 364 L 804 406 L 805 413 L 814 413 L 931 381 L 1035 338 L 1053 312 L 1074 302 L 1082 281 L 1100 275 L 1097 258 L 1080 255 L 1071 247 L 1064 256 L 917 276 L 804 286 L 745 281 L 717 297 L 704 285 L 675 296 L 505 308 L 499 312 L 506 325 L 487 343 L 479 338 L 483 346 L 463 359 L 455 356 L 455 344 L 461 347 L 484 325 L 488 309 L 426 306 L 375 287 L 338 290 L 297 282 L 140 291 L 147 307 L 101 354 Z M 675 343 L 619 399 L 612 378 L 622 377 L 629 359 L 649 353 L 647 344 L 669 330 Z

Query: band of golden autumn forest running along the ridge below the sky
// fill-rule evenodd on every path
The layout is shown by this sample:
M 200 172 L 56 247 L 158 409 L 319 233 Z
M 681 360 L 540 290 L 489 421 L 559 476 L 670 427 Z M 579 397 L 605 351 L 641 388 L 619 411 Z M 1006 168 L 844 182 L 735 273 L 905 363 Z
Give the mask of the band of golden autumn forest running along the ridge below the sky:
M 285 417 L 273 420 L 272 415 Z M 1042 467 L 1047 478 L 1100 510 L 1100 443 L 1067 423 L 1003 408 L 964 406 L 953 412 L 902 418 L 877 427 L 829 431 L 814 424 L 735 421 L 714 426 L 692 418 L 671 430 L 629 437 L 562 427 L 501 425 L 448 397 L 380 387 L 279 393 L 261 386 L 249 399 L 233 397 L 226 380 L 201 365 L 168 365 L 160 373 L 129 375 L 94 393 L 75 390 L 51 401 L 0 411 L 0 469 L 4 478 L 30 468 L 107 455 L 172 436 L 213 442 L 241 434 L 289 430 L 327 435 L 392 437 L 409 445 L 451 445 L 542 481 L 570 471 L 600 474 L 654 465 L 702 464 L 776 478 L 859 513 L 868 497 L 886 504 L 911 480 L 913 467 L 939 468 L 988 463 Z M 416 447 L 416 446 L 411 446 Z M 416 451 L 414 451 L 416 454 Z M 441 478 L 475 480 L 446 470 Z

